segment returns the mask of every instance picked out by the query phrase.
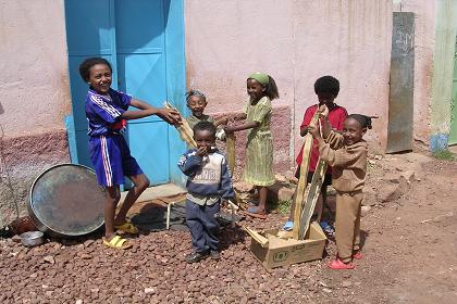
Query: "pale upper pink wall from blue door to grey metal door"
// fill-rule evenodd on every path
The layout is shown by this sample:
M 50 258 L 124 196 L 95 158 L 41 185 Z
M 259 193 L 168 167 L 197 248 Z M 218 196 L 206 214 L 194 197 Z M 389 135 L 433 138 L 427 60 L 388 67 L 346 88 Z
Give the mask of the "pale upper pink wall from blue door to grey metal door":
M 368 139 L 385 145 L 392 1 L 187 0 L 185 24 L 187 85 L 208 94 L 208 113 L 240 110 L 247 75 L 269 73 L 281 94 L 274 105 L 289 107 L 291 137 L 275 140 L 292 160 L 304 112 L 317 102 L 313 83 L 330 74 L 341 80 L 337 103 L 380 116 Z M 273 124 L 273 136 L 285 127 Z

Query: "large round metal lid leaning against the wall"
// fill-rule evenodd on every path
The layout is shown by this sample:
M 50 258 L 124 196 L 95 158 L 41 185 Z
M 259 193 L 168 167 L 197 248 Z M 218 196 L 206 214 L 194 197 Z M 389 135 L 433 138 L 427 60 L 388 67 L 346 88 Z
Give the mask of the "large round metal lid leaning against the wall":
M 92 169 L 62 164 L 45 170 L 34 181 L 28 210 L 40 230 L 77 237 L 103 225 L 106 198 Z

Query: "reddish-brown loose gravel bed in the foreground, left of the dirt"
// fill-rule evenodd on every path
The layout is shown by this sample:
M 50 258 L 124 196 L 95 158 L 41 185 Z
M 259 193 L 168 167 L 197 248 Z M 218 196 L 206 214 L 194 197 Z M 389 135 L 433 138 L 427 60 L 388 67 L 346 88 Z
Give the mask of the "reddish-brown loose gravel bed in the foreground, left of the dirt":
M 116 251 L 99 239 L 33 249 L 1 240 L 0 303 L 293 303 L 309 301 L 322 287 L 321 262 L 267 271 L 238 227 L 222 230 L 217 262 L 185 263 L 188 232 L 152 232 L 132 241 L 132 250 Z

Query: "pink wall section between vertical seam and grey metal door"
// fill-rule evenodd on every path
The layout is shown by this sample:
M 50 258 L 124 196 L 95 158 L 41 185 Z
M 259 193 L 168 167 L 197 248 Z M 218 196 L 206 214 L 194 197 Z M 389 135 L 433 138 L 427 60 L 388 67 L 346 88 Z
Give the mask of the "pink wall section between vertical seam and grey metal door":
M 387 136 L 392 1 L 296 1 L 293 18 L 296 134 L 306 107 L 317 103 L 316 79 L 333 75 L 341 83 L 336 103 L 349 113 L 379 116 L 366 138 L 374 151 L 383 151 Z

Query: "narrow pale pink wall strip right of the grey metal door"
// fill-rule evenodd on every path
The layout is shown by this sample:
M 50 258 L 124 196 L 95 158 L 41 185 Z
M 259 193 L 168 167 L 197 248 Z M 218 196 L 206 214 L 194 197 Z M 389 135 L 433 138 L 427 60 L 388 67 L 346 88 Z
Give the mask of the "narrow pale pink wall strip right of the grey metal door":
M 415 13 L 413 137 L 428 143 L 431 130 L 435 1 L 394 0 L 395 12 Z

